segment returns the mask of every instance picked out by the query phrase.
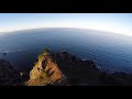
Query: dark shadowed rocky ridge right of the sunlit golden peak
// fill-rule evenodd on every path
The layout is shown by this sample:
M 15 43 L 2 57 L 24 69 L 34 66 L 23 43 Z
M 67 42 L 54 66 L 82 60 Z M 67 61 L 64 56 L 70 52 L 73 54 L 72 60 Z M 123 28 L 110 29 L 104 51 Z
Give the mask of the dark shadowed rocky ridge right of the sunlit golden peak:
M 128 86 L 132 75 L 101 72 L 92 59 L 81 61 L 67 52 L 52 54 L 59 69 L 73 86 Z

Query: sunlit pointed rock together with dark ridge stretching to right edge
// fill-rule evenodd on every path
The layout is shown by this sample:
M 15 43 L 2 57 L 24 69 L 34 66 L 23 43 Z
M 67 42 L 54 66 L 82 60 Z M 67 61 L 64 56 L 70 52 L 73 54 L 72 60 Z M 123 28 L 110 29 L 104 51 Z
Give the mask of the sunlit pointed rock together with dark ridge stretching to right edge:
M 67 52 L 43 53 L 30 73 L 28 86 L 127 86 L 132 76 L 124 73 L 107 74 L 94 61 L 81 61 Z M 56 86 L 55 85 L 55 86 Z

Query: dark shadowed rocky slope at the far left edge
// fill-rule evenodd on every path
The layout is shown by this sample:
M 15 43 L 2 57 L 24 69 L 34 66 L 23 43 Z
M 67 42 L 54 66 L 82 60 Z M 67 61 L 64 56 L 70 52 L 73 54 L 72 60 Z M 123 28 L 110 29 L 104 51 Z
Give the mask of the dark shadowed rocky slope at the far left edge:
M 19 72 L 9 62 L 0 59 L 0 86 L 16 85 L 21 85 Z

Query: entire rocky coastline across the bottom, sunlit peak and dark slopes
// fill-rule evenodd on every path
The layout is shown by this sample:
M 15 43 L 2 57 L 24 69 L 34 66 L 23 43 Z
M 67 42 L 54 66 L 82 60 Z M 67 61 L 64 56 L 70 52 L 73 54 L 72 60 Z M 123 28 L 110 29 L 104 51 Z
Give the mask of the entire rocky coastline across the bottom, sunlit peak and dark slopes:
M 30 73 L 0 59 L 0 86 L 132 86 L 132 75 L 101 72 L 94 61 L 45 50 Z

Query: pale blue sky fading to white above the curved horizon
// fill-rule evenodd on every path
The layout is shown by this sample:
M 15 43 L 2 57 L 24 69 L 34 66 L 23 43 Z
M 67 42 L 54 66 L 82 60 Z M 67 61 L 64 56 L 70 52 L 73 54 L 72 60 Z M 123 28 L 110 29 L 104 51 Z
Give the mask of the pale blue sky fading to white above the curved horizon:
M 0 13 L 0 32 L 81 28 L 132 35 L 132 13 Z

